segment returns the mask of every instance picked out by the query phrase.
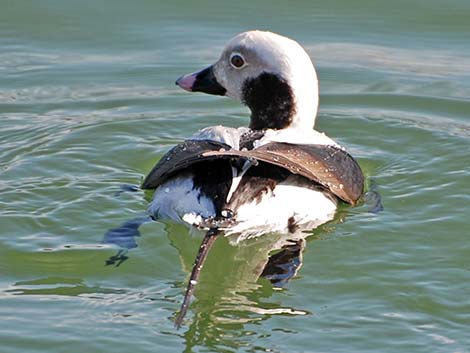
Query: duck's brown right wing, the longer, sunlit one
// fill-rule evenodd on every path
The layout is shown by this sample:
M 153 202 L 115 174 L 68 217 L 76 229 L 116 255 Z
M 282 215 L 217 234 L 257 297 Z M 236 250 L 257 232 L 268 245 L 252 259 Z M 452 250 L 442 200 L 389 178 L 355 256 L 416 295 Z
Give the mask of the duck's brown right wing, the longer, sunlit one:
M 364 190 L 361 168 L 350 154 L 335 146 L 271 142 L 251 151 L 210 151 L 203 156 L 237 156 L 274 164 L 323 185 L 352 205 Z

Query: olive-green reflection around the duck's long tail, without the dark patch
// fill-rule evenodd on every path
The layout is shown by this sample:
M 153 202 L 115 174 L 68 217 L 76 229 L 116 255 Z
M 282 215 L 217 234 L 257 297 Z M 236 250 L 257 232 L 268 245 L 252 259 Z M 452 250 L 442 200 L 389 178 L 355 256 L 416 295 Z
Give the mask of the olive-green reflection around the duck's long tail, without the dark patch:
M 189 273 L 199 247 L 200 236 L 182 237 L 168 225 L 168 237 L 180 255 L 182 266 Z M 283 235 L 272 234 L 238 245 L 230 239 L 219 237 L 214 244 L 195 291 L 195 301 L 190 310 L 194 313 L 184 321 L 183 334 L 186 351 L 206 346 L 236 348 L 243 345 L 247 323 L 267 320 L 273 315 L 305 315 L 303 309 L 283 307 L 269 298 L 275 290 L 262 278 L 267 271 L 273 250 L 285 243 Z M 303 243 L 302 243 L 303 244 Z M 286 258 L 289 266 L 295 258 Z M 281 265 L 281 264 L 277 264 Z M 294 275 L 292 273 L 291 275 Z M 180 283 L 181 292 L 185 283 Z

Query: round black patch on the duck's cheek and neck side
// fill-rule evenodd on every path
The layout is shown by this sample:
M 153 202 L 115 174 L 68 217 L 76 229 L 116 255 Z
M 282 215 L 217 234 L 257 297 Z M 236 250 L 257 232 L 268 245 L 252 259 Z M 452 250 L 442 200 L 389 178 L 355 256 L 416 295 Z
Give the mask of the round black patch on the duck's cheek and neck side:
M 243 83 L 242 100 L 251 110 L 253 130 L 284 129 L 295 114 L 294 95 L 289 84 L 267 72 Z

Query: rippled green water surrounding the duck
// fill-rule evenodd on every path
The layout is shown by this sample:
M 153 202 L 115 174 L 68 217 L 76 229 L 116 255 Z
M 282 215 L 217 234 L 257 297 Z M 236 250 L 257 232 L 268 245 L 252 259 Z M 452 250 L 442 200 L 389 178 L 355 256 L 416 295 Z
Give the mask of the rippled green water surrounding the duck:
M 0 5 L 0 352 L 470 352 L 469 1 Z M 343 208 L 281 290 L 258 276 L 273 238 L 219 239 L 177 331 L 200 237 L 146 223 L 115 267 L 103 236 L 171 145 L 247 124 L 174 80 L 253 28 L 307 48 L 317 128 L 384 210 Z

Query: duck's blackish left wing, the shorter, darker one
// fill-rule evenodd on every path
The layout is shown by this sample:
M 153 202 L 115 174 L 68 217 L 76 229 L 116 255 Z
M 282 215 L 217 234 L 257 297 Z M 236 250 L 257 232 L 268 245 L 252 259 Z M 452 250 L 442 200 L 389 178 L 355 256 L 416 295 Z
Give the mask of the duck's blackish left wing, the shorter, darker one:
M 202 161 L 220 158 L 203 156 L 204 153 L 229 150 L 229 145 L 212 140 L 187 140 L 169 150 L 142 183 L 142 189 L 155 189 L 175 173 Z

